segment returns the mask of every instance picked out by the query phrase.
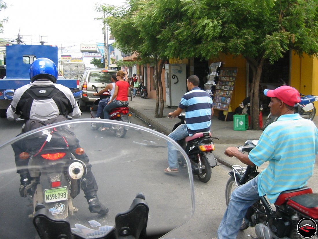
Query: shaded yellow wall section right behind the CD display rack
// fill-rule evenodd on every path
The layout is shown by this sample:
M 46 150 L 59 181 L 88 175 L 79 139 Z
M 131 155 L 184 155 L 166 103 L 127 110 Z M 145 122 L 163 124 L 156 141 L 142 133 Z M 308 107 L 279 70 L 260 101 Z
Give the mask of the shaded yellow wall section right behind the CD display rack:
M 226 55 L 221 53 L 218 59 L 211 60 L 212 62 L 222 62 L 222 68 L 227 67 L 237 67 L 237 75 L 234 85 L 234 91 L 231 98 L 231 108 L 232 111 L 242 103 L 243 99 L 246 98 L 246 60 L 243 56 L 233 57 L 233 55 Z M 218 110 L 214 113 L 218 115 Z

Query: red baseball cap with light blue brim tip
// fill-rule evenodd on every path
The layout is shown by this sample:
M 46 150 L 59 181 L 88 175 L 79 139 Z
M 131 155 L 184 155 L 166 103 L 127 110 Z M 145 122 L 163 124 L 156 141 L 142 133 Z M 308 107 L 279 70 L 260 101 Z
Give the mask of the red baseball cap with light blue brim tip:
M 277 87 L 275 90 L 265 89 L 264 95 L 278 98 L 289 106 L 294 106 L 300 102 L 299 92 L 295 88 L 288 85 Z

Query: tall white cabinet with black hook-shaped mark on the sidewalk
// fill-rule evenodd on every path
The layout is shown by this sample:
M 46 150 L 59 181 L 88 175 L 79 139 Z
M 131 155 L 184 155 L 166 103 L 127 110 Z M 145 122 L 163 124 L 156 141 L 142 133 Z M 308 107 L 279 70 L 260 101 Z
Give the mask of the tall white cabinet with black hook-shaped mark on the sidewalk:
M 178 106 L 181 97 L 187 92 L 186 64 L 164 64 L 166 85 L 166 103 Z

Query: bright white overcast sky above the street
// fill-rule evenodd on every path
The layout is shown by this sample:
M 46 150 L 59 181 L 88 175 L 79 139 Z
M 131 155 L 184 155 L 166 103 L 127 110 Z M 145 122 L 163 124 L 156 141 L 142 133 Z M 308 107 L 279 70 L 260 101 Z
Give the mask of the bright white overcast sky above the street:
M 0 38 L 17 39 L 20 32 L 25 44 L 39 44 L 59 47 L 60 55 L 82 56 L 80 44 L 104 42 L 101 12 L 95 10 L 96 4 L 121 6 L 125 0 L 4 0 L 7 8 L 0 11 L 0 19 L 8 21 L 3 24 Z M 108 32 L 109 33 L 109 32 Z M 16 42 L 15 42 L 16 43 Z M 111 41 L 109 41 L 111 43 Z M 92 58 L 83 57 L 86 67 L 91 67 Z

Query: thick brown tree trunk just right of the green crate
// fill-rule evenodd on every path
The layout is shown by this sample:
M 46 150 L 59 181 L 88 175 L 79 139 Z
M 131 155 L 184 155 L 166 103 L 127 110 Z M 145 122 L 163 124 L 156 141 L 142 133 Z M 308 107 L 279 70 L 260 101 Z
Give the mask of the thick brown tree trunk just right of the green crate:
M 246 58 L 253 72 L 253 80 L 251 86 L 251 123 L 249 129 L 260 130 L 259 127 L 259 82 L 263 70 L 264 58 L 259 60 Z

